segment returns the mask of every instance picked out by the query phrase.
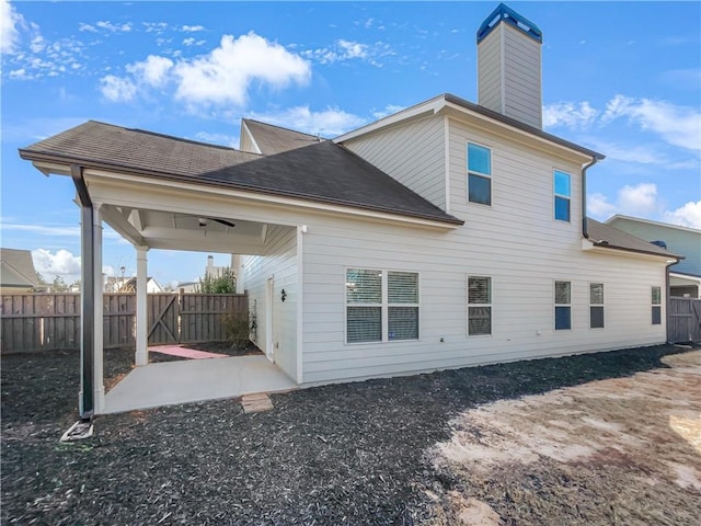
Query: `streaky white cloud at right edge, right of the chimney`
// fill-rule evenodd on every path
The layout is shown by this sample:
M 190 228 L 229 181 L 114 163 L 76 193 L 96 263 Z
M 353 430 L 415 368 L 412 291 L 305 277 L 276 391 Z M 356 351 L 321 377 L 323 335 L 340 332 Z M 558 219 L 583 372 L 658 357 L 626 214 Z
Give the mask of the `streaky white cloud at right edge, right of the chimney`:
M 643 130 L 659 135 L 670 145 L 701 150 L 701 111 L 698 107 L 616 95 L 608 102 L 601 122 L 621 117 L 628 118 Z

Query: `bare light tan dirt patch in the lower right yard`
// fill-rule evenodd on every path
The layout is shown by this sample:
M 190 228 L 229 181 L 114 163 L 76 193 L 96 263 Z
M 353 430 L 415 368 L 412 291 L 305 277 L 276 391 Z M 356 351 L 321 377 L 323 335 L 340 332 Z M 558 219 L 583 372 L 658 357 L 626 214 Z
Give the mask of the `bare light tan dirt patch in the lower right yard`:
M 436 524 L 701 524 L 701 351 L 463 412 L 430 451 Z

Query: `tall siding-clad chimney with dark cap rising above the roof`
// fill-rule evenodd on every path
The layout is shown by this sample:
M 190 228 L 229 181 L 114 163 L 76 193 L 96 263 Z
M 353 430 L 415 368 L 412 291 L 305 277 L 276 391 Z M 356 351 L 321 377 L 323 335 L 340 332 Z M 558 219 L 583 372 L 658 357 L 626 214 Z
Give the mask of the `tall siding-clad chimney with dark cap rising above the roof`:
M 507 5 L 478 30 L 478 104 L 542 129 L 542 32 Z

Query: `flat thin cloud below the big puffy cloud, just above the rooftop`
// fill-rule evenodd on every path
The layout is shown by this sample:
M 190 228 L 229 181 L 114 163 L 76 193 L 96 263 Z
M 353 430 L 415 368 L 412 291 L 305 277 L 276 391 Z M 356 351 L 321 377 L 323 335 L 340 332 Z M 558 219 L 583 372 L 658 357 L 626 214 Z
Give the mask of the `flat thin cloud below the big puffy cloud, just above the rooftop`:
M 366 123 L 366 119 L 337 107 L 312 112 L 309 106 L 296 106 L 281 113 L 257 115 L 252 118 L 312 135 L 335 137 Z

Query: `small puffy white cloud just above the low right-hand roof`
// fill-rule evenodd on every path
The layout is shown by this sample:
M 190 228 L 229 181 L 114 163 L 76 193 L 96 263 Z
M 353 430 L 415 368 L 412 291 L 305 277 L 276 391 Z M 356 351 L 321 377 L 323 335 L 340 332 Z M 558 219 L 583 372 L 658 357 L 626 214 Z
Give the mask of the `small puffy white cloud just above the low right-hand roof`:
M 663 208 L 657 185 L 653 183 L 623 186 L 618 191 L 614 203 L 610 203 L 604 194 L 587 196 L 587 214 L 595 218 L 607 218 L 613 214 L 650 217 L 658 215 Z

